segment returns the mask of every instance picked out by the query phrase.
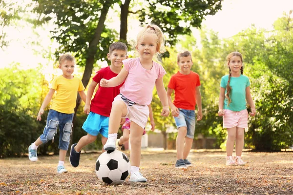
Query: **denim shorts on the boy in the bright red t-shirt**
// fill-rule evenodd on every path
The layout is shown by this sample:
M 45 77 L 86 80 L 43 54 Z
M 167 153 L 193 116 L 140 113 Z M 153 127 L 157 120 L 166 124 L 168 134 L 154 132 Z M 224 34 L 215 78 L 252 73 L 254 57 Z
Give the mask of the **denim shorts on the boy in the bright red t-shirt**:
M 195 130 L 195 111 L 181 108 L 178 109 L 179 116 L 174 117 L 177 129 L 179 129 L 179 127 L 187 127 L 186 137 L 193 139 Z

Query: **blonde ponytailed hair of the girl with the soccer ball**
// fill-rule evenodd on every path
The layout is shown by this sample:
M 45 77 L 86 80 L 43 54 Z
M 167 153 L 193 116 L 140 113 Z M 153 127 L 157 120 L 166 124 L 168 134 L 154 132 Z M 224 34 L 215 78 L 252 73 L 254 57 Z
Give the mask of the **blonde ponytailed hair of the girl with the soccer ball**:
M 138 47 L 138 42 L 141 39 L 144 39 L 145 34 L 154 34 L 157 37 L 157 48 L 156 48 L 156 59 L 158 59 L 159 61 L 161 61 L 160 55 L 166 52 L 165 49 L 165 38 L 164 38 L 164 34 L 163 31 L 161 30 L 161 28 L 155 24 L 148 24 L 146 26 L 143 27 L 143 29 L 137 34 L 136 37 L 136 47 Z

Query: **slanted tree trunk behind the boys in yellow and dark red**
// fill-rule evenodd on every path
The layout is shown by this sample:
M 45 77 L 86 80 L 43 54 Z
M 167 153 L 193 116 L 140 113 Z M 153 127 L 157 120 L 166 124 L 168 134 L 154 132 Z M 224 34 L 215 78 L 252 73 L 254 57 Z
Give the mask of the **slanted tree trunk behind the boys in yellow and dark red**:
M 86 58 L 84 75 L 82 78 L 82 82 L 84 84 L 84 87 L 87 86 L 89 79 L 91 77 L 93 67 L 94 67 L 94 62 L 95 62 L 95 55 L 98 51 L 97 46 L 98 46 L 99 41 L 101 39 L 101 34 L 104 29 L 104 24 L 105 24 L 105 19 L 106 19 L 107 13 L 109 11 L 109 8 L 113 4 L 113 2 L 114 2 L 114 0 L 106 0 L 105 1 L 105 4 L 103 5 L 103 8 L 101 10 L 101 16 L 100 16 L 100 20 L 98 22 L 97 28 L 95 30 L 95 34 L 93 36 L 93 39 L 89 42 L 88 55 Z M 77 113 L 78 107 L 80 106 L 81 102 L 82 102 L 82 98 L 78 94 L 77 99 L 76 99 L 76 106 L 74 108 L 75 113 L 74 113 L 73 121 L 75 120 L 76 113 Z M 74 133 L 74 131 L 72 128 L 72 135 L 71 135 L 71 141 L 70 141 L 71 143 L 70 144 L 72 144 L 73 133 Z

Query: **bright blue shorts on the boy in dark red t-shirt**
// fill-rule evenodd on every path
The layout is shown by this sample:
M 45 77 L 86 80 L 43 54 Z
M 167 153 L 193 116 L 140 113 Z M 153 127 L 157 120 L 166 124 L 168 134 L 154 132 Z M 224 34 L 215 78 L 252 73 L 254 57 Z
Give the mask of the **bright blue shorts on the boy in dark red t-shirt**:
M 101 134 L 104 137 L 108 137 L 109 117 L 90 112 L 84 121 L 83 129 L 91 136 Z

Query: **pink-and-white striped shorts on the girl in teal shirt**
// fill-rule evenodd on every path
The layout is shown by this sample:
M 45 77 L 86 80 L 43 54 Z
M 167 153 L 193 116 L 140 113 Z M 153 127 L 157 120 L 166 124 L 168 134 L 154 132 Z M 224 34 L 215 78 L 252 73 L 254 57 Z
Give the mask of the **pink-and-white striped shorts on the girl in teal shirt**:
M 232 128 L 232 127 L 239 127 L 239 128 L 247 128 L 248 122 L 248 112 L 247 110 L 242 111 L 231 111 L 231 110 L 224 110 L 223 116 L 223 128 Z

